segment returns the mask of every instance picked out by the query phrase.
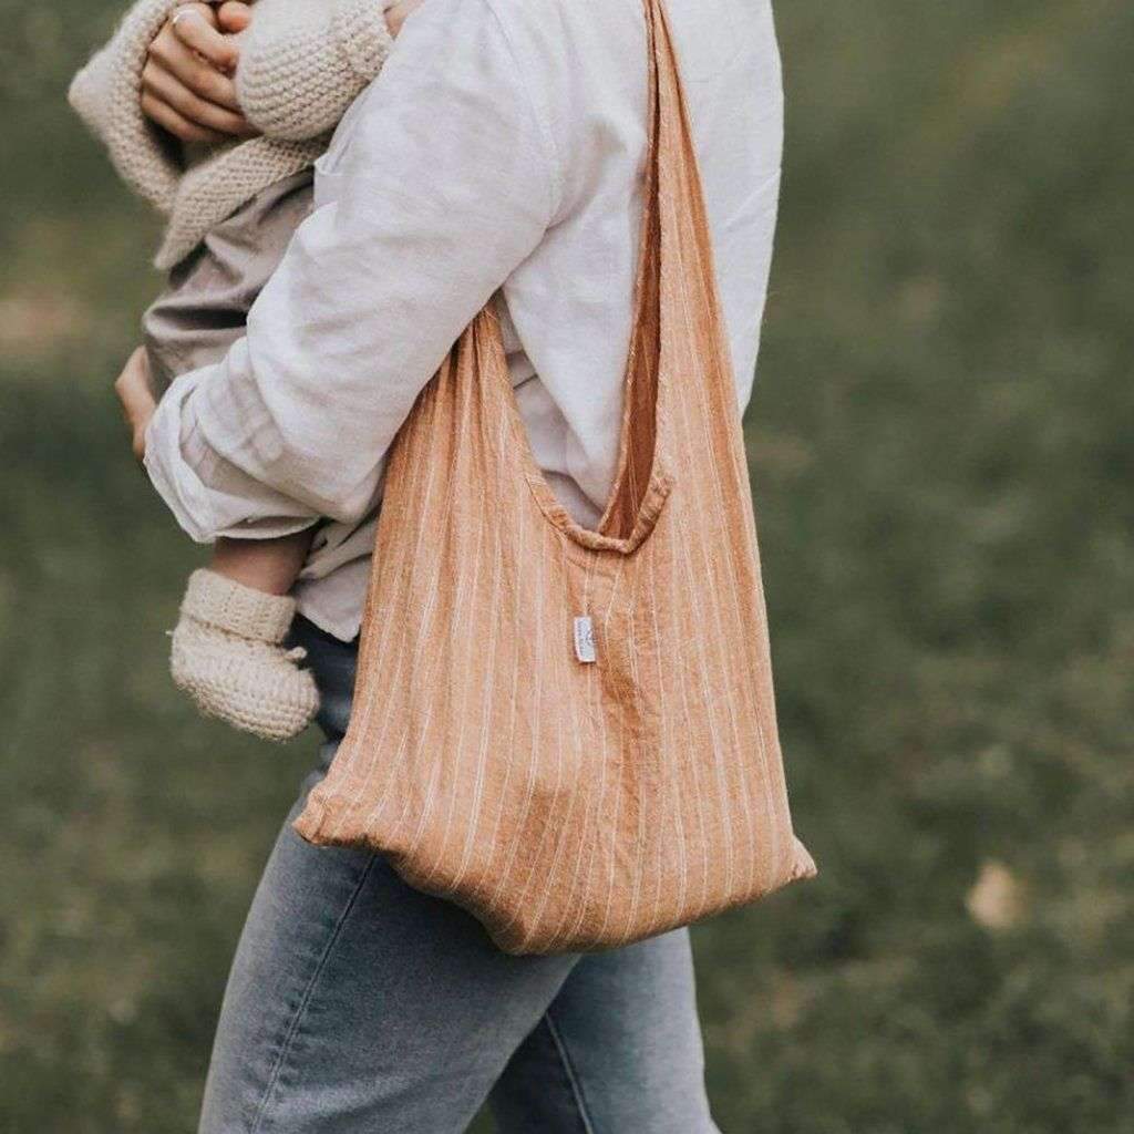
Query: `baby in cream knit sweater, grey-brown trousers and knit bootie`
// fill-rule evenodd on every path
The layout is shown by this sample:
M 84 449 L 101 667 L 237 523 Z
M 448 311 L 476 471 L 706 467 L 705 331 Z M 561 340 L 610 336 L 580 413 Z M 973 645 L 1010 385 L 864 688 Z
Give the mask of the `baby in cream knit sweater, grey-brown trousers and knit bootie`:
M 312 206 L 313 163 L 391 45 L 396 0 L 259 0 L 240 41 L 235 83 L 262 132 L 215 146 L 180 145 L 141 110 L 150 43 L 171 17 L 206 19 L 187 0 L 138 0 L 75 76 L 71 105 L 105 144 L 124 180 L 168 217 L 154 263 L 164 290 L 142 319 L 155 396 L 217 362 Z M 184 7 L 184 11 L 177 9 Z M 399 9 L 406 6 L 397 5 Z M 282 741 L 319 708 L 302 649 L 284 641 L 290 596 L 315 528 L 276 539 L 218 539 L 189 576 L 172 632 L 171 670 L 198 709 Z

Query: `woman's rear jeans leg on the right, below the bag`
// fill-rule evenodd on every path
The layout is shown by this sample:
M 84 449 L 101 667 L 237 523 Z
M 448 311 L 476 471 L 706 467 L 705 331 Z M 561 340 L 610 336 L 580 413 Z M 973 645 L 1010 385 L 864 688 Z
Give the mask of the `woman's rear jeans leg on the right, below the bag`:
M 492 1091 L 499 1134 L 717 1134 L 688 931 L 572 970 Z

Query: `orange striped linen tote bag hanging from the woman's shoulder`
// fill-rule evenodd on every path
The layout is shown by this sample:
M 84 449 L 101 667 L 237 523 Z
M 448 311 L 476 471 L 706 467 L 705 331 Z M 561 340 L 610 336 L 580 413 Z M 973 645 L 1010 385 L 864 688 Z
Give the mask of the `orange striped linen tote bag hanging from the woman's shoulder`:
M 354 712 L 295 830 L 380 850 L 508 953 L 624 945 L 815 868 L 777 737 L 752 496 L 674 44 L 619 459 L 596 530 L 543 479 L 497 318 L 399 432 Z

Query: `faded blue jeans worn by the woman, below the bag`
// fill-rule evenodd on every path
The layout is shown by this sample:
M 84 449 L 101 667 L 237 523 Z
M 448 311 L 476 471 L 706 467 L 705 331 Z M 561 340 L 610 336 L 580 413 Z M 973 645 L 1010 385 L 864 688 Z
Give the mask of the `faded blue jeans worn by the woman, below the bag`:
M 276 839 L 221 1005 L 200 1134 L 716 1134 L 686 930 L 513 957 L 379 854 L 291 830 L 350 714 L 356 646 L 297 618 L 327 743 Z

